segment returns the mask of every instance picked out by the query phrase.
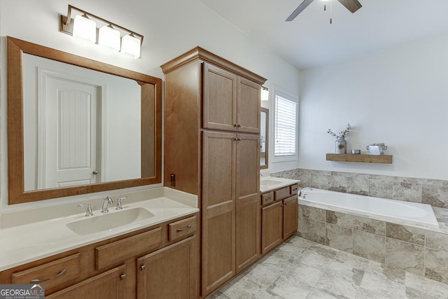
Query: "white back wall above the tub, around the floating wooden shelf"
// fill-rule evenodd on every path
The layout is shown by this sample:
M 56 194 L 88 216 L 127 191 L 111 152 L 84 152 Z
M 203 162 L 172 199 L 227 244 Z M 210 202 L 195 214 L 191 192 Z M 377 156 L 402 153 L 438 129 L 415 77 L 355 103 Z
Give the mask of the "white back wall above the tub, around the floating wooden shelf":
M 448 179 L 448 36 L 300 72 L 301 168 Z M 347 148 L 384 142 L 392 165 L 328 162 L 333 137 Z

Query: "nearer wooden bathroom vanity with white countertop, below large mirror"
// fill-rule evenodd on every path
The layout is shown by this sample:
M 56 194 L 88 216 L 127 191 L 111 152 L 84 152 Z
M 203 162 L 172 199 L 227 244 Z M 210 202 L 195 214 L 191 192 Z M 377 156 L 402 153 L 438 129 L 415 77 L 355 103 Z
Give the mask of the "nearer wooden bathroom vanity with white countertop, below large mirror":
M 8 246 L 0 249 L 0 281 L 42 281 L 45 298 L 197 298 L 197 197 L 156 188 L 131 193 L 127 200 L 120 211 L 94 209 L 93 216 L 60 217 L 54 208 L 2 214 L 0 234 Z M 59 210 L 65 214 L 70 208 L 79 212 L 76 204 Z M 140 215 L 129 223 L 104 226 L 135 210 Z M 43 218 L 19 222 L 32 213 Z

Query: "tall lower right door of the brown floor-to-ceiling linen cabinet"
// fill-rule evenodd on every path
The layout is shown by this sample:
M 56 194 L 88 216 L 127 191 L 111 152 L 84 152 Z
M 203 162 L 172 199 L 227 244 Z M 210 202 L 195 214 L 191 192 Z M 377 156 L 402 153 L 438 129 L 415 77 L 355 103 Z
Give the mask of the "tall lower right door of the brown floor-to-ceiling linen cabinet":
M 260 176 L 258 135 L 237 134 L 237 273 L 260 256 Z

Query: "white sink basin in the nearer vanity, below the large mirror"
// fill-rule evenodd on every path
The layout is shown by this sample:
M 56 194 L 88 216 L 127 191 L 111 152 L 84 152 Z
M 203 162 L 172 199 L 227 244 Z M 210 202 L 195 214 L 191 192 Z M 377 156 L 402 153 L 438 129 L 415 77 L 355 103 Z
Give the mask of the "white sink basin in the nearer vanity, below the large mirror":
M 154 214 L 144 208 L 123 209 L 111 214 L 85 217 L 82 220 L 67 223 L 66 227 L 78 235 L 90 235 L 151 217 L 154 217 Z

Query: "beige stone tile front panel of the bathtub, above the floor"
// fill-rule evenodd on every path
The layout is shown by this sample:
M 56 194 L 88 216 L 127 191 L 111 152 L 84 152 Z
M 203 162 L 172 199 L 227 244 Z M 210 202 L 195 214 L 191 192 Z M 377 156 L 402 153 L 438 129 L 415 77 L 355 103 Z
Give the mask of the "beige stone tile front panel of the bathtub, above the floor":
M 448 284 L 448 234 L 299 204 L 299 237 Z

